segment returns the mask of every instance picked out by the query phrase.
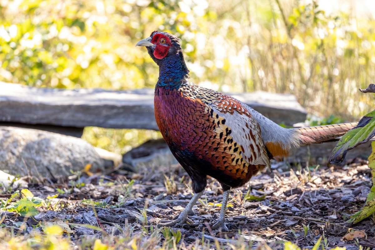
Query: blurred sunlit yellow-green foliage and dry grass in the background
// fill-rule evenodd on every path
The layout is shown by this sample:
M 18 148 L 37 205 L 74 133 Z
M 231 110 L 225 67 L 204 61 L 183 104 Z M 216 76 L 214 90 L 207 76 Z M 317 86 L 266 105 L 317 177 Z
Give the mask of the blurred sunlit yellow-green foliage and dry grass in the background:
M 374 102 L 357 89 L 375 76 L 375 20 L 352 12 L 328 14 L 311 0 L 1 0 L 0 81 L 154 87 L 157 66 L 134 45 L 163 30 L 181 38 L 197 84 L 292 93 L 311 114 L 353 120 Z M 129 133 L 85 131 L 110 150 L 111 134 Z

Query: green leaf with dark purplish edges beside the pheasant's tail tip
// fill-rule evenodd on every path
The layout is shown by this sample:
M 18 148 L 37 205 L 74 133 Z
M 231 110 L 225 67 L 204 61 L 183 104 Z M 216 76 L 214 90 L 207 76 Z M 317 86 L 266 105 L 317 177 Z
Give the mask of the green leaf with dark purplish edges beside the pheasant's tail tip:
M 348 150 L 363 144 L 375 135 L 375 110 L 366 114 L 357 127 L 349 130 L 337 143 L 329 158 L 329 164 L 341 163 Z

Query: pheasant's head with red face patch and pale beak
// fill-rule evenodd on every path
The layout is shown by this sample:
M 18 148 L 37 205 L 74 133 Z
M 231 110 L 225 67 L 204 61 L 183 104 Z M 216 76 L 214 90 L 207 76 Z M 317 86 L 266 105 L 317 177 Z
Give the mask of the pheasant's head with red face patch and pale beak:
M 178 38 L 172 34 L 162 31 L 154 31 L 150 37 L 140 40 L 136 46 L 146 46 L 148 54 L 157 63 L 173 57 L 176 54 L 182 55 L 182 49 Z

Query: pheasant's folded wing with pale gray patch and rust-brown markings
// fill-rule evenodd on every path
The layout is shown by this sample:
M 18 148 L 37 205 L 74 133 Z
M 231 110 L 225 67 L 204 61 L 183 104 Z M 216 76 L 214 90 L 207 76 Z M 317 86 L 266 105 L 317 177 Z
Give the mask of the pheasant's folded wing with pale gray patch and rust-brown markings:
M 223 146 L 228 146 L 225 151 L 235 157 L 232 162 L 270 168 L 270 159 L 261 138 L 259 124 L 245 108 L 246 105 L 231 96 L 195 84 L 190 85 L 190 91 L 212 109 L 212 116 L 217 119 L 214 131 L 219 135 L 222 133 L 219 137 L 223 137 Z M 231 145 L 228 140 L 232 141 Z

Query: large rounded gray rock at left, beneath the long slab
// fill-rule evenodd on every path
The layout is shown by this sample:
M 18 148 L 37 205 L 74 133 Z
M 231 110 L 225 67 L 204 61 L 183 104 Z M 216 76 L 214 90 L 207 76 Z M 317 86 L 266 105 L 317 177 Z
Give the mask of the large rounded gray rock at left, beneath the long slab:
M 54 177 L 71 175 L 71 170 L 82 170 L 89 163 L 92 172 L 104 170 L 103 160 L 83 139 L 0 126 L 0 169 L 9 174 L 52 178 L 50 172 Z

